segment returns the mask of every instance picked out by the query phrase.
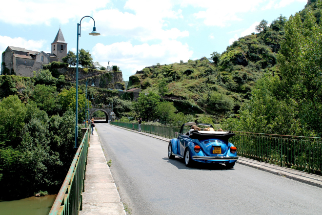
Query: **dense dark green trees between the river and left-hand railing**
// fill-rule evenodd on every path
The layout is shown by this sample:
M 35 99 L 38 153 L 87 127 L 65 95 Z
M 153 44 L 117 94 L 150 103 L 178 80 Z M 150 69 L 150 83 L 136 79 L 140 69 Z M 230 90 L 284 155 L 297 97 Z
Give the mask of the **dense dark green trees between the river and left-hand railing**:
M 17 95 L 0 102 L 0 199 L 58 192 L 72 157 L 75 115 L 48 118 Z

